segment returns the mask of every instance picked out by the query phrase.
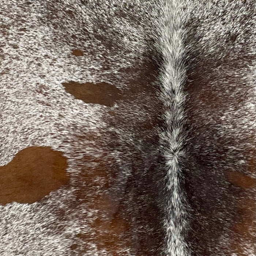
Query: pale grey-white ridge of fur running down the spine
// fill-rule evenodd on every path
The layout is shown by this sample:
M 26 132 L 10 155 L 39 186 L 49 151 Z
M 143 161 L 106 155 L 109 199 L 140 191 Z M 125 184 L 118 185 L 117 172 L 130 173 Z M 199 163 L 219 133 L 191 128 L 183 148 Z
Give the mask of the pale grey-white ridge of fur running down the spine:
M 188 207 L 182 192 L 182 165 L 185 157 L 185 19 L 184 4 L 180 0 L 161 2 L 159 19 L 158 50 L 162 57 L 159 83 L 160 98 L 164 105 L 164 130 L 161 131 L 166 172 L 164 254 L 167 256 L 189 256 L 184 234 L 188 226 Z

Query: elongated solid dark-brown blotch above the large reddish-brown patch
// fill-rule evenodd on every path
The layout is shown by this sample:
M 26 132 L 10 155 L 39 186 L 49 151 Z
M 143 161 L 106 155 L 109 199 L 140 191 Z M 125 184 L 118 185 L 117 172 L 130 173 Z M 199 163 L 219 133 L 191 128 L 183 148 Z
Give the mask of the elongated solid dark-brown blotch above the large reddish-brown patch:
M 112 106 L 121 99 L 121 91 L 108 83 L 78 83 L 70 81 L 62 83 L 65 90 L 74 95 L 76 99 L 82 99 L 85 103 L 96 103 Z

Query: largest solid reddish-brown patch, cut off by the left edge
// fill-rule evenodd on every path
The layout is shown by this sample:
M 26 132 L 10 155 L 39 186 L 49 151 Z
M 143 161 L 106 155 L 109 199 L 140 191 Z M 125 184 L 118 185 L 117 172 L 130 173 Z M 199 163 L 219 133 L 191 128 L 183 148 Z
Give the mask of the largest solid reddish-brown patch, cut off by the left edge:
M 67 160 L 50 147 L 27 147 L 0 167 L 0 203 L 34 203 L 69 181 Z

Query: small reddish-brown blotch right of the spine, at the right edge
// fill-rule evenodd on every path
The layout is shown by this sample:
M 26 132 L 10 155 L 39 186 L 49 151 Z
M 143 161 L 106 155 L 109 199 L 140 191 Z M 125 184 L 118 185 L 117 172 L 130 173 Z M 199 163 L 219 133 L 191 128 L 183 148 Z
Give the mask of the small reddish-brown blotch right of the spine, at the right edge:
M 256 179 L 241 172 L 228 172 L 227 180 L 234 186 L 240 188 L 251 188 L 256 186 Z

